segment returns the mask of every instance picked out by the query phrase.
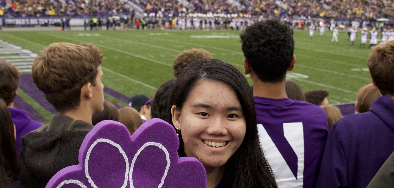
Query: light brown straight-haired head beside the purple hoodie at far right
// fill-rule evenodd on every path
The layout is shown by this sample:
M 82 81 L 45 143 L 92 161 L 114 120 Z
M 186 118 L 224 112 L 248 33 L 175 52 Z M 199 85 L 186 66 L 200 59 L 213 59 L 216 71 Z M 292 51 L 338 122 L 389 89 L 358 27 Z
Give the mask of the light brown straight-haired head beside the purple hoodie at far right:
M 380 97 L 380 91 L 372 83 L 361 87 L 357 92 L 357 101 L 355 103 L 355 110 L 358 113 L 364 113 L 369 111 L 372 102 Z

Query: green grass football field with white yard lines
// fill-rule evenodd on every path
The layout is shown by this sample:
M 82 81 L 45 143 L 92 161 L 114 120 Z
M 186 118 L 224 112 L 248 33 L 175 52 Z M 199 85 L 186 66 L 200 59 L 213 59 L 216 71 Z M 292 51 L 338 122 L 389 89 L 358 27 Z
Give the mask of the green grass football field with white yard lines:
M 174 77 L 172 62 L 186 49 L 203 48 L 243 73 L 239 34 L 240 31 L 2 31 L 0 39 L 36 53 L 53 42 L 91 43 L 104 52 L 101 68 L 105 87 L 127 97 L 153 97 L 160 85 Z M 370 48 L 359 48 L 360 35 L 351 46 L 346 35 L 340 31 L 339 42 L 331 43 L 331 31 L 323 36 L 315 31 L 309 39 L 309 31 L 295 30 L 297 61 L 287 78 L 298 83 L 303 92 L 327 90 L 331 104 L 354 102 L 359 88 L 371 83 L 367 66 Z M 50 119 L 51 113 L 34 97 L 21 89 L 18 95 Z M 121 106 L 127 105 L 108 93 L 104 96 Z

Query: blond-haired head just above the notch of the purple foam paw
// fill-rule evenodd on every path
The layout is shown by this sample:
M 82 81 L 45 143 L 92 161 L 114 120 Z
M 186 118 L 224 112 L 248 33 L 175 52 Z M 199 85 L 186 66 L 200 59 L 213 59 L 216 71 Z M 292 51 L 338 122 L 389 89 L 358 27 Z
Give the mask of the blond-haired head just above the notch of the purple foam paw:
M 118 112 L 119 122 L 127 127 L 130 135 L 132 135 L 143 123 L 138 111 L 132 107 L 123 107 L 119 109 Z

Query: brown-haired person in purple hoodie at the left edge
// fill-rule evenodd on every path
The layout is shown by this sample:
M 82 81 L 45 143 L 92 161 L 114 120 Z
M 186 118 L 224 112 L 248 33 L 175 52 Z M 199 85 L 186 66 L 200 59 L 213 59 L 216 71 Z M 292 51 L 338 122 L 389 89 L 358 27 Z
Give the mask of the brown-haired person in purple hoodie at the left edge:
M 16 129 L 16 148 L 17 159 L 19 160 L 20 152 L 22 151 L 22 136 L 30 131 L 41 127 L 41 123 L 36 122 L 30 118 L 27 111 L 23 109 L 14 109 L 14 99 L 17 95 L 19 82 L 19 71 L 11 63 L 4 60 L 0 61 L 0 98 L 6 101 L 8 110 L 11 113 L 12 120 Z

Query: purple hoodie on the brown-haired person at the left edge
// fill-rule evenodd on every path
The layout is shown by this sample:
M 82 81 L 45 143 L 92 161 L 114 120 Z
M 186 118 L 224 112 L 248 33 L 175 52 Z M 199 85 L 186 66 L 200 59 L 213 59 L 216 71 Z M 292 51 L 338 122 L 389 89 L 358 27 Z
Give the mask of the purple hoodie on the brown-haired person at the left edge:
M 38 129 L 42 124 L 30 119 L 28 113 L 23 109 L 8 108 L 8 110 L 11 113 L 12 121 L 15 124 L 15 131 L 17 132 L 15 144 L 17 147 L 17 158 L 19 160 L 19 155 L 22 151 L 22 136 Z

